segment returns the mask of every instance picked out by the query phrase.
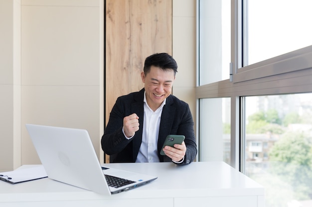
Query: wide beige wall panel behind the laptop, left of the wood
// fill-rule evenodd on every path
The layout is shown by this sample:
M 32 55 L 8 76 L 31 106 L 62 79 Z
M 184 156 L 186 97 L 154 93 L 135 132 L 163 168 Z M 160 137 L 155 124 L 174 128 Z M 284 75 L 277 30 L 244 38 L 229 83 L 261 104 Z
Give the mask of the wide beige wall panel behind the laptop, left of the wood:
M 26 123 L 87 129 L 100 156 L 101 9 L 100 0 L 22 0 L 22 164 L 39 162 Z

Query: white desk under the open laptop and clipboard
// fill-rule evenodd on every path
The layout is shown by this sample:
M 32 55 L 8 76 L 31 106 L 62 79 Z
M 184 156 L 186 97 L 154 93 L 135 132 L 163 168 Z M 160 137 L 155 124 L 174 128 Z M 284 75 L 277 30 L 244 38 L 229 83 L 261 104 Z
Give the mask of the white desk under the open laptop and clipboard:
M 158 178 L 112 196 L 66 185 L 49 178 L 19 184 L 0 181 L 0 207 L 264 207 L 264 188 L 224 162 L 112 163 Z M 22 166 L 29 167 L 29 166 Z M 81 179 L 88 179 L 88 175 Z

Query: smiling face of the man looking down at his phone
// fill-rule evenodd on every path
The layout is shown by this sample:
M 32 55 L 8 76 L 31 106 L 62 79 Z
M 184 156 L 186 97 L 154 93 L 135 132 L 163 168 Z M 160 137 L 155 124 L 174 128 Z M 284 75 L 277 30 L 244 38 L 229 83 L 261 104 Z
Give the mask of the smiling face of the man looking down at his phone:
M 151 66 L 150 72 L 146 75 L 142 72 L 141 77 L 144 82 L 148 105 L 155 111 L 164 99 L 171 94 L 175 78 L 174 71 Z

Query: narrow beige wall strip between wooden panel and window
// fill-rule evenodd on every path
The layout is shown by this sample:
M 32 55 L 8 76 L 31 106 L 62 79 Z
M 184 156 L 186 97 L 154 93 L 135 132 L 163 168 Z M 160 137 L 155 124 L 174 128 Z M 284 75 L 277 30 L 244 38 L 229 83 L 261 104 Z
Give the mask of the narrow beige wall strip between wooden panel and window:
M 196 0 L 173 0 L 172 5 L 172 56 L 178 65 L 172 94 L 189 104 L 195 122 Z

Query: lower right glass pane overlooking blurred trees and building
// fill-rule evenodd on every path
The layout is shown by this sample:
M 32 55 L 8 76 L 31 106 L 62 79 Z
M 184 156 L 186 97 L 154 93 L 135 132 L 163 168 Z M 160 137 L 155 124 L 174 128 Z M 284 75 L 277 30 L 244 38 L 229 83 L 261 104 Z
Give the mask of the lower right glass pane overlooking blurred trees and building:
M 312 93 L 246 97 L 246 175 L 266 207 L 312 205 Z

